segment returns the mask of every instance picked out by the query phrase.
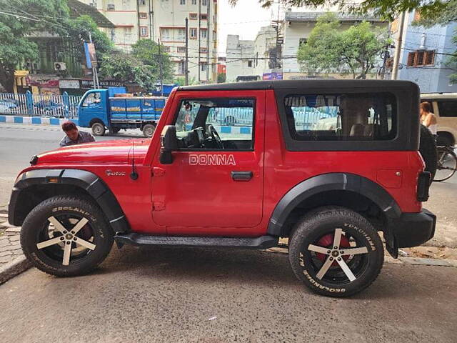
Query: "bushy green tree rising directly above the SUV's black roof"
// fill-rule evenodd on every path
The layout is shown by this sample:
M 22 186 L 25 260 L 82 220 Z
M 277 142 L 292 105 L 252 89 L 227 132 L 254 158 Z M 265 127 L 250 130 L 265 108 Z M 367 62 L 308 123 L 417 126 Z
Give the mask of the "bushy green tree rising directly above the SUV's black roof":
M 363 21 L 341 31 L 335 14 L 318 18 L 306 44 L 298 49 L 297 60 L 308 72 L 351 72 L 354 79 L 366 79 L 389 40 L 387 33 Z

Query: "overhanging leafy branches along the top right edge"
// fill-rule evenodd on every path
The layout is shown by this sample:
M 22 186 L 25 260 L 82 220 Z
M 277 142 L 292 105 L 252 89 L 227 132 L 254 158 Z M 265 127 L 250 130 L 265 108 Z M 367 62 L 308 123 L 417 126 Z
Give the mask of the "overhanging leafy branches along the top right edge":
M 233 5 L 238 1 L 229 0 Z M 388 21 L 393 21 L 401 12 L 421 11 L 423 19 L 436 21 L 442 13 L 446 13 L 449 8 L 456 5 L 456 0 L 363 0 L 358 1 L 338 1 L 338 0 L 280 0 L 286 8 L 291 7 L 319 7 L 319 6 L 338 6 L 340 12 L 350 12 L 354 14 L 373 14 L 381 16 Z M 270 7 L 275 0 L 258 0 L 262 7 Z

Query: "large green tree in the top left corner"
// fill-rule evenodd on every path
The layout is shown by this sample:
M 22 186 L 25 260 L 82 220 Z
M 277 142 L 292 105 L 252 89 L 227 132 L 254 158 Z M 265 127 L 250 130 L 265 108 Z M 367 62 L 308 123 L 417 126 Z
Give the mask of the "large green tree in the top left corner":
M 16 66 L 39 58 L 30 34 L 63 34 L 61 21 L 69 17 L 69 9 L 65 0 L 0 0 L 0 9 L 0 84 L 13 92 Z

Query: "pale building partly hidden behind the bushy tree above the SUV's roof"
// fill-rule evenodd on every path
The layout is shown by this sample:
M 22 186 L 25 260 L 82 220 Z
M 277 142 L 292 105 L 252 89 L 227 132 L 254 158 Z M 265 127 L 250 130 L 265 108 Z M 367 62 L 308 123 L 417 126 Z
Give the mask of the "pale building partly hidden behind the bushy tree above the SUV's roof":
M 306 41 L 316 25 L 319 16 L 325 12 L 292 12 L 286 11 L 283 25 L 283 78 L 284 79 L 305 79 L 308 77 L 306 73 L 301 71 L 300 65 L 296 59 L 298 48 L 301 44 L 306 44 Z M 338 20 L 341 22 L 340 29 L 346 30 L 354 24 L 361 21 L 368 21 L 374 26 L 385 27 L 388 23 L 380 18 L 373 16 L 356 16 L 350 14 L 337 14 Z M 340 74 L 328 74 L 333 78 L 343 78 Z

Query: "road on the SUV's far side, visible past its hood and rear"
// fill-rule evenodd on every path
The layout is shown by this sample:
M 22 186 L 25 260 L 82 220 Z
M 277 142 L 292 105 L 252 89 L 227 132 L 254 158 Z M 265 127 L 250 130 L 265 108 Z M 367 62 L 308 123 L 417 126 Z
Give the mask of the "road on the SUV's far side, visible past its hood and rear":
M 54 149 L 62 136 L 57 126 L 0 124 L 0 206 L 9 202 L 14 179 L 29 165 L 30 157 Z M 141 131 L 129 130 L 116 138 L 139 136 Z M 106 139 L 114 139 L 114 136 L 97 137 L 97 140 Z M 457 175 L 447 182 L 433 183 L 431 199 L 424 206 L 438 216 L 435 238 L 428 244 L 457 248 Z

